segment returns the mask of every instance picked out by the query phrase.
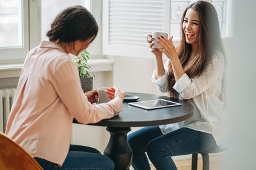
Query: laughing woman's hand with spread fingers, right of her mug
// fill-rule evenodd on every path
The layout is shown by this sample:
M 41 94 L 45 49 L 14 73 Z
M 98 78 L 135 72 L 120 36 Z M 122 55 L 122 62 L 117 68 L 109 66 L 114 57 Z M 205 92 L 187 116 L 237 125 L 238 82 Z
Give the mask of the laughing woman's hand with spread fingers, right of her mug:
M 164 37 L 159 37 L 157 38 L 157 42 L 159 43 L 159 45 L 163 47 L 163 49 L 158 48 L 158 50 L 160 52 L 163 52 L 168 57 L 168 59 L 172 61 L 172 59 L 174 59 L 175 57 L 178 57 L 176 48 L 172 42 L 172 38 L 167 39 Z

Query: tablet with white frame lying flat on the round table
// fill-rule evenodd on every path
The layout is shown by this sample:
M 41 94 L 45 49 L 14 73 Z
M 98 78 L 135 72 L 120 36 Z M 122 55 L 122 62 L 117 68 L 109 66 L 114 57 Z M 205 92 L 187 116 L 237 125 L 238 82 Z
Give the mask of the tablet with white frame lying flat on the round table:
M 156 109 L 156 108 L 166 108 L 172 106 L 180 106 L 180 103 L 175 103 L 173 101 L 166 101 L 164 99 L 156 99 L 150 101 L 139 101 L 134 103 L 129 103 L 132 106 L 137 106 L 146 110 Z

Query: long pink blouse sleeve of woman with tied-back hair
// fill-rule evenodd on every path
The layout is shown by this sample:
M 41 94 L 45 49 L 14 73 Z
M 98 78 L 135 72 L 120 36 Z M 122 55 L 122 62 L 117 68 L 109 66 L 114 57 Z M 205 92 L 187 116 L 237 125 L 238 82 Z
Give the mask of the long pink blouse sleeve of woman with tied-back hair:
M 54 88 L 65 104 L 72 117 L 82 124 L 96 123 L 105 118 L 111 118 L 122 111 L 123 104 L 120 97 L 104 104 L 91 104 L 81 89 L 77 68 L 72 62 L 61 64 L 54 73 Z

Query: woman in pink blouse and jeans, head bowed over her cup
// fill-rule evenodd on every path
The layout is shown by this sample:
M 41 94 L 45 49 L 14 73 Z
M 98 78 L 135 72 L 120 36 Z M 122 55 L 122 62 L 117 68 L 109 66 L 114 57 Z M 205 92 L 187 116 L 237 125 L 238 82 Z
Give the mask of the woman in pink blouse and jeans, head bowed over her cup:
M 108 92 L 108 103 L 92 104 L 98 92 L 83 93 L 77 66 L 68 55 L 86 49 L 97 32 L 88 10 L 67 8 L 52 22 L 50 41 L 33 48 L 24 62 L 6 134 L 44 169 L 114 169 L 112 160 L 96 149 L 70 145 L 73 118 L 89 124 L 122 111 L 125 93 L 118 88 Z

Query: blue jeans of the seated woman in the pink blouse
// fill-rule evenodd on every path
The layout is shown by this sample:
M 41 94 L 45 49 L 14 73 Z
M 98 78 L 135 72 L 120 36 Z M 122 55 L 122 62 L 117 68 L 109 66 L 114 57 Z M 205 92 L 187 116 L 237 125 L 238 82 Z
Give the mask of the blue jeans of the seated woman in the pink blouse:
M 114 169 L 114 162 L 108 157 L 101 155 L 95 148 L 88 146 L 70 145 L 68 155 L 60 167 L 45 159 L 34 158 L 43 169 Z

